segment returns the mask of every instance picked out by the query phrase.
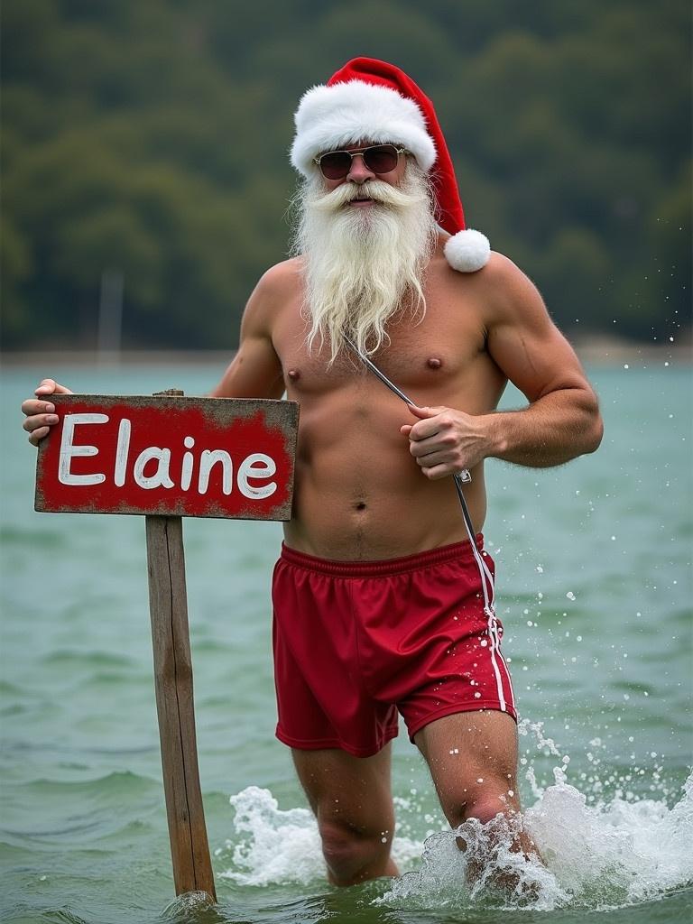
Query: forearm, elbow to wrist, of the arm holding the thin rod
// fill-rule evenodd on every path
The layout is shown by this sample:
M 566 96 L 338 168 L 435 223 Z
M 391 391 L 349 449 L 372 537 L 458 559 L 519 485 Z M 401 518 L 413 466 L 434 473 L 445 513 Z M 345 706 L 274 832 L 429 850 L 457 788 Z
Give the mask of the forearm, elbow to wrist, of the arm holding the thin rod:
M 485 415 L 480 423 L 486 456 L 530 468 L 563 465 L 594 452 L 602 441 L 597 399 L 581 388 L 551 392 L 522 410 Z

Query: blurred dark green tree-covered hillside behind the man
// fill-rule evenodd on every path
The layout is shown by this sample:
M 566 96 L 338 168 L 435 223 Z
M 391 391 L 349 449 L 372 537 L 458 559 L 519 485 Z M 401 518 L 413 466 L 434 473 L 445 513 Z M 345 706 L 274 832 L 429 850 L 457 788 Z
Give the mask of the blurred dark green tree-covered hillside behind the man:
M 298 97 L 354 55 L 433 99 L 468 224 L 571 332 L 688 317 L 686 0 L 6 0 L 3 344 L 233 348 L 286 255 Z

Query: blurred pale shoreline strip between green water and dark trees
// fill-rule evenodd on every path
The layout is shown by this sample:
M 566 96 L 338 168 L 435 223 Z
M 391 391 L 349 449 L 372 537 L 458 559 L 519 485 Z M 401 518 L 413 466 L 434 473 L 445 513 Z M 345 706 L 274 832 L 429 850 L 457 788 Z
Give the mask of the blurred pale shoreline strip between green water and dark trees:
M 622 362 L 671 361 L 677 364 L 690 364 L 693 361 L 693 348 L 690 336 L 681 336 L 677 343 L 646 344 L 638 341 L 625 341 L 609 337 L 573 337 L 571 343 L 583 362 L 598 365 L 616 365 Z M 87 365 L 87 366 L 131 366 L 131 365 L 169 365 L 186 366 L 209 365 L 226 366 L 233 359 L 236 350 L 148 350 L 127 349 L 119 352 L 106 350 L 7 350 L 0 353 L 0 366 L 42 366 Z

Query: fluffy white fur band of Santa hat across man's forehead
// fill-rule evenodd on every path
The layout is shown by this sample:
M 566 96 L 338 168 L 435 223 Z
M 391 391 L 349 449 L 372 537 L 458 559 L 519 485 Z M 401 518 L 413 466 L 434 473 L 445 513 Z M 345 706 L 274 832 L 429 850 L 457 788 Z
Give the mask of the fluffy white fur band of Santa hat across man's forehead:
M 423 170 L 435 161 L 435 145 L 419 106 L 397 91 L 362 80 L 312 87 L 298 103 L 291 163 L 310 176 L 312 160 L 359 141 L 404 144 Z

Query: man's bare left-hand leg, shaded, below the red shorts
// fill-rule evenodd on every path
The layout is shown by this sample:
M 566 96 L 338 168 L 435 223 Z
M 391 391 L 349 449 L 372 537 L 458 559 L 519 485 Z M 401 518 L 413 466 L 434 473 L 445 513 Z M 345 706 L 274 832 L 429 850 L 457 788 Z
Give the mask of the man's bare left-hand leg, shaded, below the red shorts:
M 390 857 L 395 832 L 391 746 L 367 758 L 336 748 L 294 749 L 292 754 L 318 821 L 329 881 L 354 885 L 396 876 Z

